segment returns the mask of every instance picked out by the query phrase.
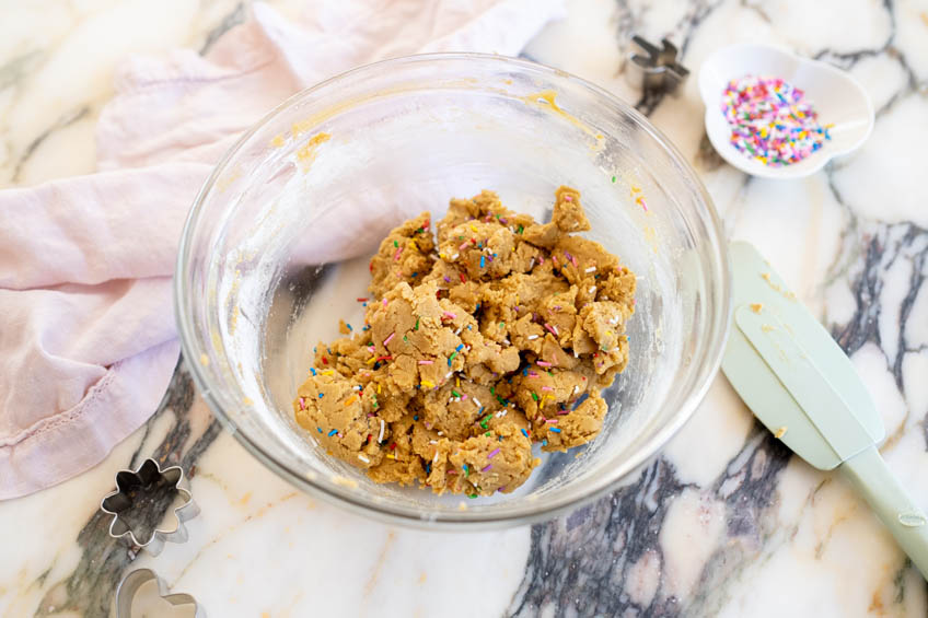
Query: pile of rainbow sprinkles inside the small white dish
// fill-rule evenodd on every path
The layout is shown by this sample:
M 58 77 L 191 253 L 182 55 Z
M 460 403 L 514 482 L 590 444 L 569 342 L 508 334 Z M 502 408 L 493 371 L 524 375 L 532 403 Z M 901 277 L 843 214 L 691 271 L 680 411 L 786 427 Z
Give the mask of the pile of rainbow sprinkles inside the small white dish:
M 831 140 L 805 93 L 780 78 L 744 75 L 722 93 L 731 144 L 764 165 L 798 163 Z

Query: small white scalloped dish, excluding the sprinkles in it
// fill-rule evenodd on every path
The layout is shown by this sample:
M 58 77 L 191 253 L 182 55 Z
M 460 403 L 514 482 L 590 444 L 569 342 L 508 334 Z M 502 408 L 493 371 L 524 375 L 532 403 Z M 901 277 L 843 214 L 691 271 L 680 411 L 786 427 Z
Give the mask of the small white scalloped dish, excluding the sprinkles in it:
M 726 85 L 744 75 L 777 77 L 805 92 L 822 124 L 834 127 L 832 139 L 810 156 L 781 167 L 764 165 L 730 142 L 731 127 L 722 112 Z M 712 53 L 699 69 L 699 95 L 706 104 L 706 133 L 716 151 L 742 172 L 763 178 L 801 178 L 821 170 L 833 156 L 848 153 L 873 130 L 873 104 L 846 71 L 770 45 L 742 43 Z

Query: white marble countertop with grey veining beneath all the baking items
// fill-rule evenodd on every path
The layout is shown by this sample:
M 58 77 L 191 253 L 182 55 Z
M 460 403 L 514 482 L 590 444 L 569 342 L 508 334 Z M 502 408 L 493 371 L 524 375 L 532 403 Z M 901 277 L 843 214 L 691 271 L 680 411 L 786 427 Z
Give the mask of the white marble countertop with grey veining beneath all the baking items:
M 285 13 L 298 4 L 271 3 Z M 928 509 L 928 4 L 568 9 L 524 55 L 635 102 L 673 139 L 730 237 L 757 245 L 850 354 L 886 424 L 884 457 Z M 244 14 L 237 0 L 19 5 L 0 20 L 0 186 L 92 172 L 115 63 L 207 47 Z M 670 36 L 693 70 L 738 40 L 833 62 L 870 93 L 873 135 L 807 179 L 746 177 L 709 145 L 695 79 L 673 97 L 642 98 L 626 83 L 635 32 Z M 190 540 L 156 558 L 111 541 L 97 510 L 114 474 L 147 456 L 188 470 L 202 508 Z M 0 615 L 14 617 L 105 616 L 130 565 L 156 569 L 213 617 L 928 615 L 925 581 L 861 500 L 790 456 L 721 375 L 660 457 L 612 495 L 531 527 L 439 534 L 297 491 L 220 429 L 179 368 L 143 428 L 92 470 L 0 503 Z

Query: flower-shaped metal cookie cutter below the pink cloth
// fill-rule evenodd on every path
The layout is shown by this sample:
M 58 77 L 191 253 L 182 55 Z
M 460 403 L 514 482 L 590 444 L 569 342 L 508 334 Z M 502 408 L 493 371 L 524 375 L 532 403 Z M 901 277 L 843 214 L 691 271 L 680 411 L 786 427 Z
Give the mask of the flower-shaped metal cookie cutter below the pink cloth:
M 113 538 L 126 538 L 134 547 L 146 549 L 152 556 L 158 556 L 164 548 L 165 541 L 184 543 L 187 540 L 187 528 L 184 522 L 199 514 L 199 506 L 194 502 L 189 490 L 181 487 L 184 481 L 184 470 L 179 466 L 161 469 L 154 459 L 146 459 L 135 471 L 119 470 L 116 473 L 116 491 L 106 494 L 100 503 L 104 513 L 113 515 L 109 524 L 109 536 Z M 169 490 L 169 491 L 165 491 Z M 170 493 L 170 495 L 167 495 Z M 184 499 L 184 503 L 174 509 L 177 518 L 177 527 L 173 530 L 164 530 L 155 527 L 158 522 L 152 522 L 152 532 L 149 538 L 138 538 L 124 518 L 129 512 L 142 516 L 159 516 L 174 500 L 176 493 Z

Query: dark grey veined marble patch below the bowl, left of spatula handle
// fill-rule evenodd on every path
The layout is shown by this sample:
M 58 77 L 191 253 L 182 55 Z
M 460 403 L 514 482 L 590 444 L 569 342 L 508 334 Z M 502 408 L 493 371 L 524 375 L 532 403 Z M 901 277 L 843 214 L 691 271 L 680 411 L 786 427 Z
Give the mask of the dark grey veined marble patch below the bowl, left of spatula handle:
M 535 616 L 680 616 L 709 611 L 710 591 L 764 544 L 765 512 L 777 475 L 790 452 L 757 428 L 711 487 L 682 482 L 674 466 L 659 458 L 639 479 L 570 515 L 532 529 L 525 576 L 508 613 Z M 668 509 L 686 489 L 724 505 L 726 544 L 704 573 L 704 594 L 681 599 L 662 594 L 661 530 Z M 650 581 L 648 581 L 650 580 Z

